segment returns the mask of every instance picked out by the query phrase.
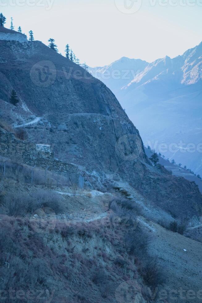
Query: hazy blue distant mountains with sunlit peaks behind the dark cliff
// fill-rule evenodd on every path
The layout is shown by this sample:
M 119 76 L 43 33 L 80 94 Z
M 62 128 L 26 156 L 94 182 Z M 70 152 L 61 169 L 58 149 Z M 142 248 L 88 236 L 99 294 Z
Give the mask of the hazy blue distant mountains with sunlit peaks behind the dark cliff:
M 145 145 L 202 175 L 202 42 L 173 59 L 123 57 L 90 72 L 116 95 Z

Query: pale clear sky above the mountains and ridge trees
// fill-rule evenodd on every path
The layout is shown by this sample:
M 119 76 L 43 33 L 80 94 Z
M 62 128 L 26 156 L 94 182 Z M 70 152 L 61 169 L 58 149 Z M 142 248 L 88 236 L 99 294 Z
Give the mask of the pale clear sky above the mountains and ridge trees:
M 202 0 L 0 0 L 10 28 L 68 43 L 80 62 L 104 66 L 125 56 L 152 62 L 202 41 Z

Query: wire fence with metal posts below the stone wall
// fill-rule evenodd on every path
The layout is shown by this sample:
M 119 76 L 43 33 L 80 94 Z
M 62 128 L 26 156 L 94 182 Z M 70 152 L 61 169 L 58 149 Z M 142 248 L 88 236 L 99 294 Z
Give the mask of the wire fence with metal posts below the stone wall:
M 50 171 L 48 167 L 42 169 L 36 166 L 28 166 L 20 160 L 11 160 L 0 157 L 0 177 L 11 178 L 15 181 L 30 185 L 71 186 L 84 188 L 84 177 L 78 174 Z

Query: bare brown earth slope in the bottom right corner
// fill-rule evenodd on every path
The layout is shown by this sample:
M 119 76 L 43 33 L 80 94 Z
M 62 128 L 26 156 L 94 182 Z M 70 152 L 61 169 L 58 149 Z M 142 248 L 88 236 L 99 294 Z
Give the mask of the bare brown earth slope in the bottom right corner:
M 152 226 L 155 232 L 149 251 L 158 256 L 164 268 L 166 282 L 163 289 L 168 292 L 166 297 L 159 299 L 179 303 L 201 302 L 202 244 L 157 224 Z

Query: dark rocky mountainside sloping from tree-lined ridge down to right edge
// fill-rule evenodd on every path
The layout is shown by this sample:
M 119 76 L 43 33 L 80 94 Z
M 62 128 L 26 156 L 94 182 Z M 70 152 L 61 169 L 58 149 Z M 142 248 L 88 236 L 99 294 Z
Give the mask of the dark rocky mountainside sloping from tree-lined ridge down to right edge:
M 184 201 L 187 216 L 199 214 L 196 185 L 149 164 L 138 130 L 106 85 L 39 41 L 0 40 L 0 49 L 1 119 L 25 128 L 29 141 L 51 144 L 62 161 L 96 176 L 118 175 L 175 216 Z

